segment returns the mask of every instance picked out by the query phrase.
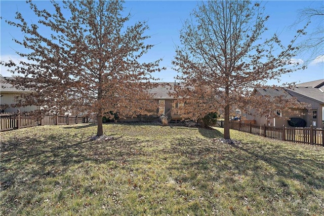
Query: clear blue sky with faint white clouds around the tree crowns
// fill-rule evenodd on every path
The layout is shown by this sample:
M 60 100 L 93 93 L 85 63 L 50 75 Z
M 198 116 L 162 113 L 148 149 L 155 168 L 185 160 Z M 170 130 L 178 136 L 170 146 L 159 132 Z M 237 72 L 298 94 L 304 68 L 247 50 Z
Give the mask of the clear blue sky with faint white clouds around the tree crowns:
M 143 57 L 144 61 L 154 61 L 163 58 L 160 66 L 167 67 L 167 70 L 155 74 L 155 77 L 164 82 L 173 82 L 177 75 L 172 69 L 172 59 L 175 56 L 175 46 L 180 45 L 179 30 L 182 28 L 182 23 L 189 18 L 190 13 L 196 8 L 197 1 L 126 1 L 125 11 L 132 15 L 131 22 L 147 21 L 150 29 L 146 34 L 151 35 L 147 41 L 148 44 L 155 46 Z M 262 2 L 265 4 L 266 14 L 270 16 L 266 26 L 268 27 L 268 35 L 273 33 L 279 34 L 279 39 L 287 44 L 292 40 L 296 30 L 301 25 L 293 23 L 299 18 L 300 10 L 312 7 L 322 7 L 323 1 L 269 1 Z M 48 1 L 36 1 L 39 7 L 47 8 L 50 6 Z M 0 1 L 1 16 L 5 19 L 13 20 L 15 12 L 19 10 L 26 16 L 27 21 L 37 22 L 37 19 L 30 12 L 28 5 L 24 1 Z M 317 20 L 318 21 L 318 20 Z M 302 23 L 305 24 L 305 23 Z M 311 23 L 312 27 L 318 23 Z M 322 26 L 323 27 L 323 26 Z M 8 26 L 4 20 L 1 20 L 1 60 L 7 61 L 11 59 L 20 59 L 15 50 L 22 48 L 12 41 L 12 38 L 22 38 L 21 32 L 12 26 Z M 269 37 L 269 36 L 268 36 Z M 324 78 L 323 60 L 319 62 L 310 59 L 307 54 L 296 56 L 295 59 L 300 62 L 308 62 L 308 68 L 305 70 L 295 71 L 292 74 L 282 77 L 282 82 L 308 82 Z M 321 58 L 323 59 L 323 58 Z M 4 67 L 1 67 L 3 76 L 11 76 Z M 269 81 L 268 84 L 278 84 Z

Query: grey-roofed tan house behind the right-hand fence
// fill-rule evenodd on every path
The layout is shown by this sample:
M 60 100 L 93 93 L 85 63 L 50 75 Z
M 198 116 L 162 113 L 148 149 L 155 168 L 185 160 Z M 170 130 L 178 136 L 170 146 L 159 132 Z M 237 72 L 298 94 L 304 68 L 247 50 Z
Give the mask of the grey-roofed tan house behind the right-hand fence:
M 305 120 L 306 126 L 312 125 L 314 127 L 324 128 L 324 79 L 301 83 L 294 88 L 255 88 L 253 94 L 270 96 L 270 98 L 284 96 L 286 99 L 290 99 L 295 97 L 299 102 L 310 105 L 309 109 L 299 110 L 299 113 L 303 114 L 301 116 L 283 113 L 281 110 L 273 111 L 275 114 L 274 118 L 247 115 L 247 119 L 256 120 L 256 124 L 278 127 L 288 125 L 287 119 L 289 118 L 302 118 Z

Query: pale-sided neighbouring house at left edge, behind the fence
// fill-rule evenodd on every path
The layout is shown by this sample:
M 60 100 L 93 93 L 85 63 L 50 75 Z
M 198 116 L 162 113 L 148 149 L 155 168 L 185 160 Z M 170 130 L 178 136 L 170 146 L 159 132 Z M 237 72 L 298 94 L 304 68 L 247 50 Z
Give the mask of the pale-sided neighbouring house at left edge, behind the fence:
M 30 90 L 16 89 L 11 84 L 5 82 L 5 79 L 13 79 L 12 77 L 0 76 L 0 104 L 1 113 L 17 113 L 18 109 L 21 113 L 31 112 L 37 110 L 37 106 L 24 106 L 24 107 L 12 107 L 15 104 L 15 96 L 23 93 L 28 93 Z

